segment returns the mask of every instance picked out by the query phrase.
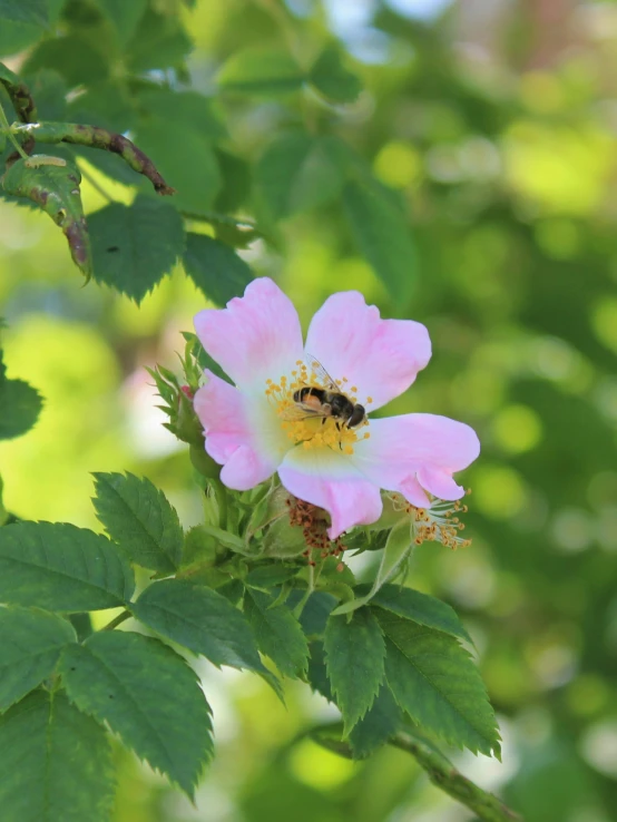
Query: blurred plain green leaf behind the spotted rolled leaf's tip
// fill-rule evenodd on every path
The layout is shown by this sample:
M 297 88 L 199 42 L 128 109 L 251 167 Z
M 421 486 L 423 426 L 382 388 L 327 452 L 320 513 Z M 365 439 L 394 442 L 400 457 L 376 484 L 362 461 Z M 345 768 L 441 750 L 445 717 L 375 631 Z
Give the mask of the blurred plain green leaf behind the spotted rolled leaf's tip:
M 221 172 L 210 140 L 195 124 L 178 128 L 174 120 L 141 123 L 135 141 L 176 189 L 174 205 L 203 215 L 221 188 Z

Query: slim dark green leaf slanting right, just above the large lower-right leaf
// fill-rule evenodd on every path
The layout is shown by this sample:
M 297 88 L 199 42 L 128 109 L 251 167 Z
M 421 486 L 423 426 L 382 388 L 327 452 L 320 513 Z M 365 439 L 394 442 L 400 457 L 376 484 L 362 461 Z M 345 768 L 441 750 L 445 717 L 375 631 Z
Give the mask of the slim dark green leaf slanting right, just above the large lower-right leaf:
M 359 587 L 362 590 L 362 586 Z M 384 585 L 371 603 L 404 619 L 411 619 L 427 628 L 441 630 L 457 639 L 473 645 L 473 640 L 459 619 L 457 611 L 441 599 L 422 594 L 403 585 Z

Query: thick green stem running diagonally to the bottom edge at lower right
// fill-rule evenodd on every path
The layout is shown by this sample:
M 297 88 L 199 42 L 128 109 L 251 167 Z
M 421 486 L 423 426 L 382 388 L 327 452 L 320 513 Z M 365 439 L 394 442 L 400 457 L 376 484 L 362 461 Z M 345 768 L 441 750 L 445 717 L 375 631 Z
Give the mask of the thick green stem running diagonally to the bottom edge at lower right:
M 522 822 L 522 818 L 507 808 L 497 796 L 483 791 L 454 767 L 449 766 L 445 760 L 420 745 L 404 731 L 394 734 L 390 744 L 414 756 L 433 785 L 477 813 L 483 822 Z

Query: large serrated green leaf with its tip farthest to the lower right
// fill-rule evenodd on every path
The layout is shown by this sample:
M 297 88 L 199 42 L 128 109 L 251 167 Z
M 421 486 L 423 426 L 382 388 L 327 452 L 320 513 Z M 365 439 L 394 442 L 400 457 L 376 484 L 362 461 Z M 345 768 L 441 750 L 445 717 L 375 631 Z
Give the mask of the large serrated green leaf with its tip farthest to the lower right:
M 420 725 L 473 753 L 499 756 L 499 733 L 484 684 L 454 637 L 386 610 L 385 676 L 399 705 Z

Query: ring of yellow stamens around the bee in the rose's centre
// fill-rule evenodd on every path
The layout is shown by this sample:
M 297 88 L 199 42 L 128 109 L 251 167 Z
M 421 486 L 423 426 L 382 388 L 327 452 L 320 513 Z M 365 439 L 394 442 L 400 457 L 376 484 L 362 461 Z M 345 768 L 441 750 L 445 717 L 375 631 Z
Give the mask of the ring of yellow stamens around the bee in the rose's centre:
M 365 432 L 369 421 L 364 419 L 361 424 L 350 428 L 347 420 L 332 414 L 331 403 L 324 402 L 323 392 L 342 394 L 355 404 L 358 389 L 346 389 L 346 376 L 335 381 L 331 378 L 332 381 L 326 383 L 319 362 L 307 364 L 298 360 L 296 365 L 297 370 L 288 375 L 265 382 L 265 395 L 278 417 L 281 428 L 295 446 L 303 449 L 330 448 L 353 454 L 355 443 L 370 436 Z M 294 400 L 294 394 L 306 388 L 316 389 L 319 395 L 308 394 L 303 402 Z

